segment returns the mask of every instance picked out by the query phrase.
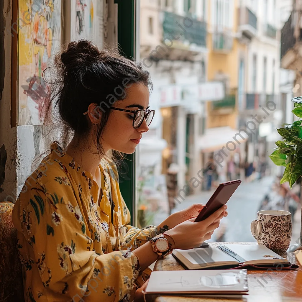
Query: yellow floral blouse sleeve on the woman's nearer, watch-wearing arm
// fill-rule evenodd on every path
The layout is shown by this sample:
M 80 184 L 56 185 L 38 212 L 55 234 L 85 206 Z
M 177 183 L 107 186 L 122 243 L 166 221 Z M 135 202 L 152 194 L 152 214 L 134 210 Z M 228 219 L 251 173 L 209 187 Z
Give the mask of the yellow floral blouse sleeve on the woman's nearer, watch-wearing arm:
M 102 255 L 93 251 L 82 205 L 71 186 L 48 188 L 20 194 L 25 203 L 18 209 L 43 285 L 73 301 L 81 297 L 87 302 L 117 302 L 127 297 L 140 272 L 137 257 L 129 249 Z

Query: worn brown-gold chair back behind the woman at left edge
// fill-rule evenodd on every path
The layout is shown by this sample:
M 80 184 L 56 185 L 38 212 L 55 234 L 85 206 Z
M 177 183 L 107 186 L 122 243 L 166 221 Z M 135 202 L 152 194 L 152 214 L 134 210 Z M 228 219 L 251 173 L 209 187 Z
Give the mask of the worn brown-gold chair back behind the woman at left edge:
M 0 302 L 25 301 L 17 230 L 11 220 L 13 207 L 12 202 L 0 202 Z

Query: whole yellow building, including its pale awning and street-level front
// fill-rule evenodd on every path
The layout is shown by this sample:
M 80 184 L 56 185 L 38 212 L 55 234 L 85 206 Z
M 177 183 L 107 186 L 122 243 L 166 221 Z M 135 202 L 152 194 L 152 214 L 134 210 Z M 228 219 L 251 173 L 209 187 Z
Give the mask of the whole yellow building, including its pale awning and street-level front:
M 206 168 L 208 160 L 214 157 L 218 182 L 239 178 L 239 164 L 244 161 L 244 143 L 234 146 L 234 150 L 225 146 L 238 129 L 239 108 L 243 106 L 246 92 L 247 44 L 256 31 L 257 18 L 248 8 L 240 6 L 239 0 L 207 3 L 207 79 L 222 81 L 225 97 L 206 104 L 206 129 L 200 140 L 200 150 L 203 167 Z M 238 168 L 232 176 L 228 174 L 230 160 Z

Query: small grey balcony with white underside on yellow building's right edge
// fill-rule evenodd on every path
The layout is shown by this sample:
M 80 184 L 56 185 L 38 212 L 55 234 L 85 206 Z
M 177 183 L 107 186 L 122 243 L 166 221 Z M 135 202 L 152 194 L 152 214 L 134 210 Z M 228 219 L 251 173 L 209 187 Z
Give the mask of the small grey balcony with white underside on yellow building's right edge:
M 247 7 L 240 7 L 238 14 L 238 31 L 248 39 L 252 39 L 257 31 L 256 15 Z

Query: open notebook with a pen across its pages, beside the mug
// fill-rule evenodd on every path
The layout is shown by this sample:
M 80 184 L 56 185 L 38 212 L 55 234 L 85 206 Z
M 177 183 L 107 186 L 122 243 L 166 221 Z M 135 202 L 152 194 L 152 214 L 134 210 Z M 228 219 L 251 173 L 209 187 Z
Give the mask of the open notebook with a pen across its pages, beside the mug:
M 264 245 L 222 244 L 219 247 L 195 248 L 188 250 L 174 249 L 173 256 L 188 269 L 214 267 L 237 267 L 246 265 L 271 266 L 290 263 Z M 278 266 L 277 266 L 278 267 Z

